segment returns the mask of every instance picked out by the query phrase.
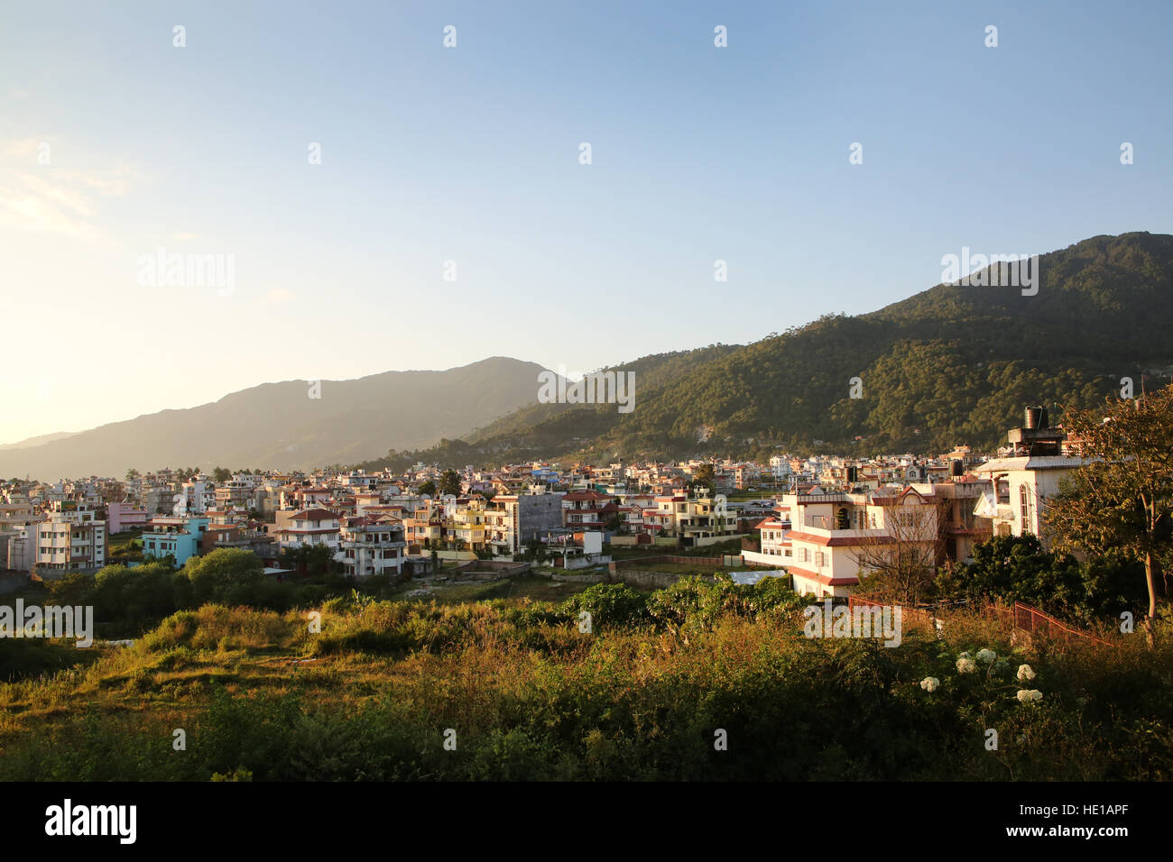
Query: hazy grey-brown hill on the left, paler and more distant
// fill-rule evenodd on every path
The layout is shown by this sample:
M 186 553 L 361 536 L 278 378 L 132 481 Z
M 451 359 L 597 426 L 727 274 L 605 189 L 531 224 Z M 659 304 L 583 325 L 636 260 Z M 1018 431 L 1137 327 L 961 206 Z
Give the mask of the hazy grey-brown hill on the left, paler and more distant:
M 0 475 L 45 481 L 161 467 L 294 469 L 430 446 L 537 401 L 535 362 L 494 357 L 448 371 L 264 384 L 190 409 L 0 450 Z M 28 443 L 28 441 L 25 441 Z M 25 447 L 21 443 L 21 447 Z

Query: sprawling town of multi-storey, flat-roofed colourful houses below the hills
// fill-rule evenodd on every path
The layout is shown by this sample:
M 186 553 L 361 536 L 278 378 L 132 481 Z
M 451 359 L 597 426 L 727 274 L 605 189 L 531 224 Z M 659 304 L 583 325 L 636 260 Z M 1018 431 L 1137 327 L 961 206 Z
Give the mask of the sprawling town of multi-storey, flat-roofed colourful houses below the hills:
M 768 463 L 416 463 L 399 474 L 162 468 L 52 484 L 9 480 L 0 570 L 16 589 L 111 562 L 182 566 L 235 548 L 283 578 L 304 573 L 290 563 L 298 551 L 325 548 L 345 577 L 398 581 L 432 572 L 439 561 L 537 555 L 582 570 L 610 563 L 615 548 L 664 554 L 739 542 L 737 564 L 788 578 L 799 592 L 842 597 L 876 565 L 877 547 L 918 548 L 940 564 L 967 561 L 994 535 L 1045 543 L 1040 515 L 1059 481 L 1084 463 L 1077 449 L 1049 427 L 1044 408 L 1029 407 L 989 456 L 957 446 L 927 456 L 779 454 Z M 111 542 L 128 534 L 141 554 L 114 558 Z

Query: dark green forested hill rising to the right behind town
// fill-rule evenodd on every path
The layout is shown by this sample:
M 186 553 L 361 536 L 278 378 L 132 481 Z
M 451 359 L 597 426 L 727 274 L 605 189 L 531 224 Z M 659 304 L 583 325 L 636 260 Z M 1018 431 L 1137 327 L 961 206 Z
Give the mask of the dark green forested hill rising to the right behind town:
M 636 408 L 543 405 L 406 453 L 442 463 L 796 452 L 994 448 L 1028 403 L 1090 407 L 1121 378 L 1173 366 L 1173 237 L 1085 239 L 1039 258 L 1019 287 L 936 285 L 861 315 L 827 315 L 744 347 L 663 354 L 638 368 Z M 962 273 L 964 274 L 964 273 Z M 666 358 L 666 359 L 665 359 Z M 658 361 L 657 361 L 658 360 Z M 860 378 L 862 398 L 850 396 Z

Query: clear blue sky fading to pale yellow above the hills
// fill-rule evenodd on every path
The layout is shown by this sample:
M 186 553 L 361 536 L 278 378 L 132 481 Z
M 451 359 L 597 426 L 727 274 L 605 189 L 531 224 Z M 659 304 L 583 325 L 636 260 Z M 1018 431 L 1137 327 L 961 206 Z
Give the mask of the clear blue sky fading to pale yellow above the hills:
M 1169 33 L 1166 0 L 0 0 L 0 443 L 745 344 L 963 246 L 1173 232 Z

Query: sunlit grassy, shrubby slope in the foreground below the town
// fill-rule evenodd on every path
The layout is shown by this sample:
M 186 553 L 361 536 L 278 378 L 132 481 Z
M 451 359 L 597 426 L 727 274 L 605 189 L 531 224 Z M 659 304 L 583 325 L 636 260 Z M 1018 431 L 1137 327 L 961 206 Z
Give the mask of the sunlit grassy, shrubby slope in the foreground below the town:
M 320 633 L 304 612 L 205 605 L 0 684 L 0 779 L 1173 778 L 1167 638 L 1057 652 L 950 616 L 887 649 L 804 637 L 802 604 L 774 581 L 694 579 L 562 605 L 333 600 Z M 985 647 L 1002 660 L 962 672 Z

